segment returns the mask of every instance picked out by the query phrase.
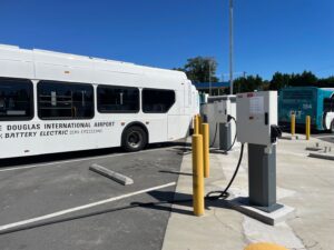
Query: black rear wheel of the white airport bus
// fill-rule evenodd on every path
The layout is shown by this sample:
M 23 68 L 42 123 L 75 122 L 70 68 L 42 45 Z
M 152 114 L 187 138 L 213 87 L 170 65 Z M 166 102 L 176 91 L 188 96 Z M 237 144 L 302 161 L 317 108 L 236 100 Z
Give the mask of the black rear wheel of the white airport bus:
M 147 144 L 147 134 L 140 127 L 132 126 L 124 132 L 121 144 L 128 152 L 139 151 Z

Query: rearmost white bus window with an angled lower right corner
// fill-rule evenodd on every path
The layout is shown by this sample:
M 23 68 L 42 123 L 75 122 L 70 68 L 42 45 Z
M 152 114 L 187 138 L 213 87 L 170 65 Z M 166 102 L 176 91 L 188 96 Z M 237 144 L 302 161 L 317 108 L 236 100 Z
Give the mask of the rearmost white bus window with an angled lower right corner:
M 175 92 L 173 90 L 143 90 L 143 111 L 145 113 L 166 113 L 174 102 Z

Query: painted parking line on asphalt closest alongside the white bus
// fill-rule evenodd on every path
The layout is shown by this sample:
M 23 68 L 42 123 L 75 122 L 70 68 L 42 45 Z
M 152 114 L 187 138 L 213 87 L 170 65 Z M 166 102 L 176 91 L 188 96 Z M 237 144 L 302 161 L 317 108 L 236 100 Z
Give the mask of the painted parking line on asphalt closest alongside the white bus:
M 31 164 L 31 166 L 6 168 L 6 169 L 0 169 L 0 172 L 14 171 L 14 170 L 23 170 L 23 169 L 32 169 L 32 168 L 40 168 L 40 167 L 52 166 L 52 164 L 66 164 L 66 163 L 71 163 L 71 162 L 88 161 L 88 160 L 95 160 L 95 159 L 101 159 L 101 158 L 112 158 L 112 157 L 130 156 L 130 154 L 143 153 L 143 152 L 151 152 L 151 151 L 157 151 L 157 150 L 163 150 L 163 149 L 174 148 L 174 147 L 175 146 L 164 147 L 164 148 L 157 148 L 157 149 L 148 149 L 148 150 L 143 150 L 143 151 L 138 151 L 138 152 L 117 153 L 117 154 L 111 154 L 111 156 L 89 157 L 89 158 L 80 158 L 80 159 L 76 159 L 76 160 L 55 161 L 55 162 L 50 162 L 50 163 L 41 163 L 41 164 Z M 58 166 L 58 167 L 60 167 L 60 166 Z

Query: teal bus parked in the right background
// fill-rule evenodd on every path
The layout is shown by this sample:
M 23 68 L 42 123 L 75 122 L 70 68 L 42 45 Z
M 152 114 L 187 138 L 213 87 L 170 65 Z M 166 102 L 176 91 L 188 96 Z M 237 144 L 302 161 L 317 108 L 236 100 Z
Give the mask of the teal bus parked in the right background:
M 296 127 L 305 127 L 306 116 L 311 116 L 311 127 L 334 132 L 334 88 L 289 87 L 281 89 L 278 97 L 278 122 L 291 123 L 291 114 L 296 116 Z

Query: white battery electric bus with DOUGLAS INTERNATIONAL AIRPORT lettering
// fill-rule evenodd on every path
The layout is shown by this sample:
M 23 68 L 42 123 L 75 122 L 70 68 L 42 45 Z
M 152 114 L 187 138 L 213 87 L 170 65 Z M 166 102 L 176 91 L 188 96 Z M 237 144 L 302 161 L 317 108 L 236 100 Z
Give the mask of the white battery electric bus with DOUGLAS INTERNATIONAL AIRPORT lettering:
M 0 159 L 138 151 L 185 138 L 198 112 L 183 72 L 0 46 Z

